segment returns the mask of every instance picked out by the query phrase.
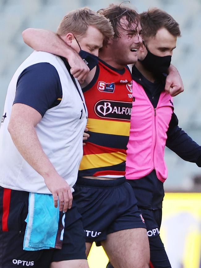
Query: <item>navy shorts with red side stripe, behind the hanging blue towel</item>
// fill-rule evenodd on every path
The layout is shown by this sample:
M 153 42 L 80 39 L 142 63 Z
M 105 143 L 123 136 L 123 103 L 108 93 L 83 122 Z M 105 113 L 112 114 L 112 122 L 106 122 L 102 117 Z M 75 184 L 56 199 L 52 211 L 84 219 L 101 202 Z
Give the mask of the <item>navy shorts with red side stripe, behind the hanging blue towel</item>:
M 66 212 L 62 249 L 23 250 L 28 197 L 29 192 L 0 187 L 0 267 L 49 268 L 51 262 L 86 259 L 81 215 L 74 201 Z

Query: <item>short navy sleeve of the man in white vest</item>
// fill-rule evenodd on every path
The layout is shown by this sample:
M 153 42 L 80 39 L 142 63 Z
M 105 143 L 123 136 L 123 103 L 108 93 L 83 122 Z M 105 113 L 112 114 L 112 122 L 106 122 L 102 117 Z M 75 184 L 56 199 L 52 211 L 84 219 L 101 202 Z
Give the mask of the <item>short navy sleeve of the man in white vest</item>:
M 50 63 L 36 63 L 19 75 L 14 103 L 23 103 L 45 112 L 62 96 L 62 86 L 56 68 Z

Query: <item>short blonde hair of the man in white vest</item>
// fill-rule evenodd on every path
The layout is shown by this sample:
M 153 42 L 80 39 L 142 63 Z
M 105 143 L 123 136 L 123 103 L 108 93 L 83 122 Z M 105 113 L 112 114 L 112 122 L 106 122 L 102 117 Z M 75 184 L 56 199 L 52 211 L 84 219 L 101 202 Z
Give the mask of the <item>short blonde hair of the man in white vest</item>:
M 114 32 L 109 20 L 88 7 L 79 8 L 67 13 L 57 28 L 57 34 L 64 36 L 68 32 L 72 32 L 76 36 L 83 36 L 89 26 L 98 29 L 104 37 L 113 37 Z

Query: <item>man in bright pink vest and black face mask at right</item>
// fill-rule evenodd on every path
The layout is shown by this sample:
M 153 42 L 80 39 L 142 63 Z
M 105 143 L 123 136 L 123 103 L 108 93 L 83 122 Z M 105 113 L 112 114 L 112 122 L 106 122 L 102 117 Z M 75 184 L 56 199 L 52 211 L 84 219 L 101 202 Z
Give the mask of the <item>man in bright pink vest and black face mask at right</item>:
M 201 146 L 181 128 L 165 79 L 177 37 L 178 23 L 166 12 L 140 14 L 143 44 L 132 68 L 133 107 L 126 157 L 126 180 L 133 188 L 147 227 L 150 267 L 171 268 L 160 239 L 163 183 L 167 178 L 165 145 L 186 161 L 201 166 Z M 107 268 L 111 268 L 111 264 Z

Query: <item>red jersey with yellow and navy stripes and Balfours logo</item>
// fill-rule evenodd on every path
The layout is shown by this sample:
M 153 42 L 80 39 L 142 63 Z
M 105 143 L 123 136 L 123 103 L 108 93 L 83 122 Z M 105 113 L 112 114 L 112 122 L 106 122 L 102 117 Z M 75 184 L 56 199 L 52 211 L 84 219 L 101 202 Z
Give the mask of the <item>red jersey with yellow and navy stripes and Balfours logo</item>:
M 122 177 L 133 100 L 129 68 L 118 70 L 99 60 L 83 95 L 90 137 L 83 147 L 79 176 Z

